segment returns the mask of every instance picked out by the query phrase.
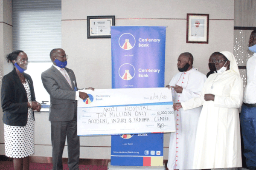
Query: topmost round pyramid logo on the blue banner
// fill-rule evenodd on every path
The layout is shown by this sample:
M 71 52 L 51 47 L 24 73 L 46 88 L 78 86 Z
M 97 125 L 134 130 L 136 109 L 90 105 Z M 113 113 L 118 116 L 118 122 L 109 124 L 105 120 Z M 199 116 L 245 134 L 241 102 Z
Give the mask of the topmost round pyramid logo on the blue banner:
M 130 33 L 122 34 L 119 37 L 119 46 L 124 50 L 131 50 L 135 45 L 135 37 Z

